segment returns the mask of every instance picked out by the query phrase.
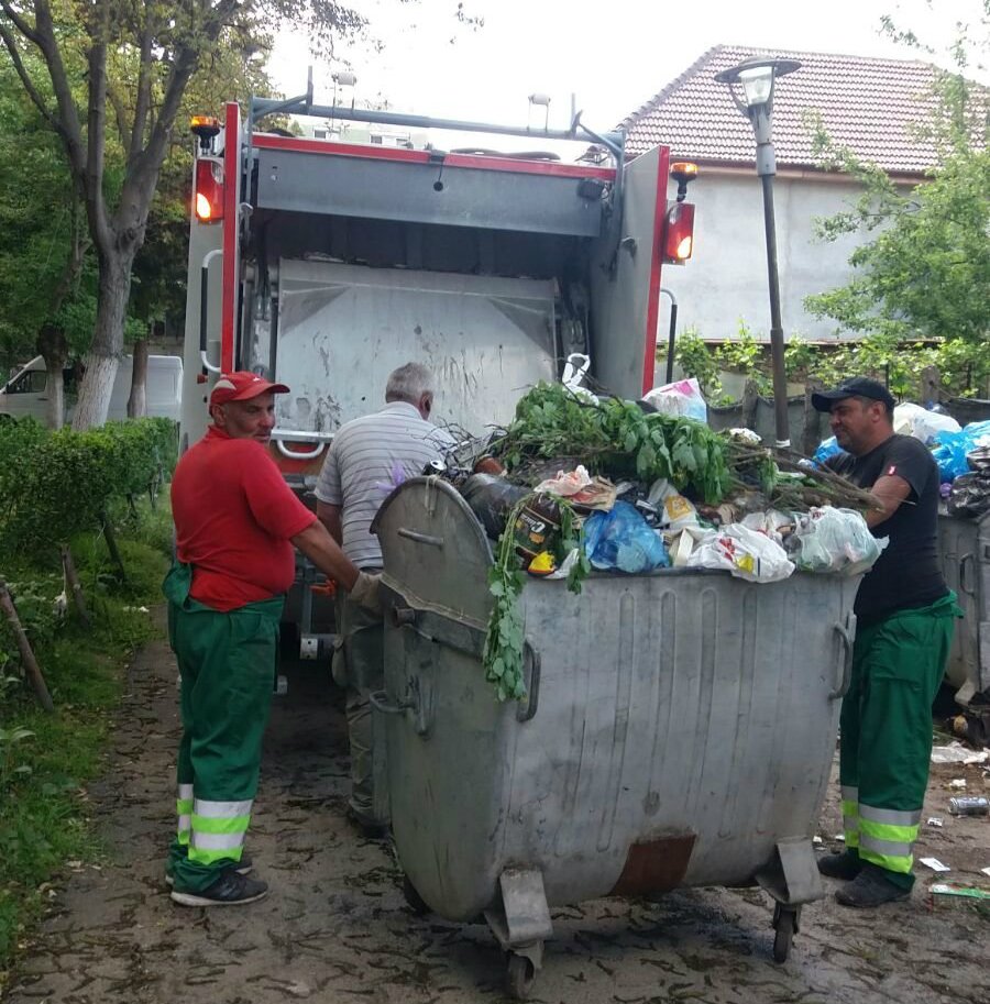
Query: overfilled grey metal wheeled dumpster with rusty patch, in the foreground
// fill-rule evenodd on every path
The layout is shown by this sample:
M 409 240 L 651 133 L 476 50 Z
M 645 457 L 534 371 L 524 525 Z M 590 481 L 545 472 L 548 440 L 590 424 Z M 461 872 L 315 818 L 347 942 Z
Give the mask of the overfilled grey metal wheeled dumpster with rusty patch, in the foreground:
M 385 556 L 387 788 L 407 897 L 484 915 L 525 996 L 549 908 L 759 883 L 782 961 L 823 895 L 812 837 L 848 685 L 858 578 L 755 585 L 723 572 L 593 575 L 522 591 L 528 695 L 481 664 L 485 533 L 414 478 L 375 528 Z

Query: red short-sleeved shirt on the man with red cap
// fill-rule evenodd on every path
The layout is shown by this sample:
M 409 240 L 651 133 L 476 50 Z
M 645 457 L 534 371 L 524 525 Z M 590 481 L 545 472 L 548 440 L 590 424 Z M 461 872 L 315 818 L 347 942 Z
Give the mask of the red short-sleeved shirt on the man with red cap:
M 211 426 L 172 481 L 178 559 L 193 565 L 193 599 L 232 610 L 284 593 L 296 575 L 289 538 L 316 516 L 265 448 Z

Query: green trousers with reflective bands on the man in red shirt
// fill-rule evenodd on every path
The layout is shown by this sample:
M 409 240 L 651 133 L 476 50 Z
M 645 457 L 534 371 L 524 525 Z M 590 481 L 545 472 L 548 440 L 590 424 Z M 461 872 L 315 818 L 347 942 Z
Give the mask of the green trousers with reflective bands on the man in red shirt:
M 257 792 L 284 597 L 220 613 L 189 598 L 190 570 L 165 580 L 182 676 L 175 887 L 201 892 L 241 860 Z

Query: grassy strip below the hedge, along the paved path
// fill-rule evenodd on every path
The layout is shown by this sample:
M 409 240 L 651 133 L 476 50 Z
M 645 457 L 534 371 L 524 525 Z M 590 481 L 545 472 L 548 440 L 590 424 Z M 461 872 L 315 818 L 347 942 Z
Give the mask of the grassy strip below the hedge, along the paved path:
M 99 536 L 73 541 L 89 630 L 72 608 L 61 624 L 52 614 L 63 586 L 57 559 L 2 569 L 15 586 L 55 713 L 34 700 L 13 670 L 10 638 L 0 635 L 0 992 L 19 944 L 43 914 L 48 883 L 66 861 L 99 858 L 86 783 L 105 768 L 124 666 L 138 646 L 158 635 L 147 608 L 162 600 L 163 547 L 170 550 L 172 541 L 167 506 L 155 512 L 139 506 L 120 519 L 118 533 L 124 583 Z

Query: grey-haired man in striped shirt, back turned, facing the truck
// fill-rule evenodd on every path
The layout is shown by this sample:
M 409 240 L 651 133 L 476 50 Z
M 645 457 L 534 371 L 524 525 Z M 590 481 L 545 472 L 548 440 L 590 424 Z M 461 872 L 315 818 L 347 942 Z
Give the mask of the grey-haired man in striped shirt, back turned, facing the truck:
M 392 487 L 421 474 L 453 445 L 453 438 L 429 421 L 432 407 L 432 375 L 419 363 L 406 363 L 388 377 L 385 407 L 346 422 L 333 439 L 317 483 L 317 516 L 360 570 L 382 570 L 382 548 L 371 525 Z M 345 594 L 339 594 L 337 618 L 333 677 L 348 689 L 348 816 L 365 837 L 382 837 L 388 816 L 386 799 L 375 805 L 373 757 L 384 750 L 373 750 L 367 697 L 383 685 L 382 622 Z

